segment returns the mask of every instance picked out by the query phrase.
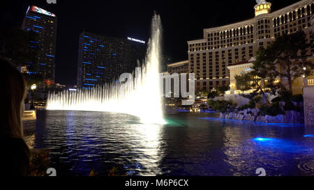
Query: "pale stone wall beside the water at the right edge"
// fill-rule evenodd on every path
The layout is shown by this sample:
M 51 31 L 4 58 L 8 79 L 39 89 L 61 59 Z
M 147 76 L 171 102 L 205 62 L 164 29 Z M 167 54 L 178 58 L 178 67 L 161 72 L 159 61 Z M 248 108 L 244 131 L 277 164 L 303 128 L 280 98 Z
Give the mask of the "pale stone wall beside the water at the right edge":
M 314 127 L 314 86 L 304 86 L 304 123 Z

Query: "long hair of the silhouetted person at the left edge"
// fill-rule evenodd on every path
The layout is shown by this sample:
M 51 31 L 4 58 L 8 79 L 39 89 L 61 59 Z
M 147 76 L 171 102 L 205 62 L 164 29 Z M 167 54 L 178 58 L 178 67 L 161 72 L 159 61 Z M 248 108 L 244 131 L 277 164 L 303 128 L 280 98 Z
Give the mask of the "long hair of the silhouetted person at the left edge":
M 9 61 L 0 59 L 1 67 L 1 136 L 22 138 L 22 106 L 27 94 L 27 83 L 22 74 Z

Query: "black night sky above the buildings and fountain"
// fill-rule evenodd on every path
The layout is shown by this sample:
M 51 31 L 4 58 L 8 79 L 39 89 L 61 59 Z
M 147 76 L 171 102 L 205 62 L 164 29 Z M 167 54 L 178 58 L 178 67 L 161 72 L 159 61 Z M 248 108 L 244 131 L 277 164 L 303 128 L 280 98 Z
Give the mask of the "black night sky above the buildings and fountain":
M 163 23 L 163 54 L 173 61 L 187 59 L 187 40 L 202 38 L 205 28 L 231 24 L 254 17 L 255 0 L 239 1 L 108 1 L 108 0 L 5 0 L 4 6 L 20 24 L 29 5 L 43 8 L 58 17 L 56 82 L 76 84 L 79 33 L 83 29 L 108 36 L 130 36 L 147 41 L 154 10 Z M 297 0 L 269 0 L 272 10 Z M 2 9 L 2 8 L 1 8 Z M 2 9 L 3 10 L 3 9 Z

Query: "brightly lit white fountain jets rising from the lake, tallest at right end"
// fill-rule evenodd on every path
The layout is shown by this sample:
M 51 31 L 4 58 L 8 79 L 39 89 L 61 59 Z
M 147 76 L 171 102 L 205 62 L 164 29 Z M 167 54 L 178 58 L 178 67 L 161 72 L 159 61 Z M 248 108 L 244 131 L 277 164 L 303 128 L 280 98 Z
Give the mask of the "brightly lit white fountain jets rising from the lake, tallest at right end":
M 142 71 L 137 68 L 133 82 L 50 93 L 47 109 L 127 113 L 144 123 L 164 124 L 159 76 L 160 35 L 160 16 L 154 15 L 145 64 Z

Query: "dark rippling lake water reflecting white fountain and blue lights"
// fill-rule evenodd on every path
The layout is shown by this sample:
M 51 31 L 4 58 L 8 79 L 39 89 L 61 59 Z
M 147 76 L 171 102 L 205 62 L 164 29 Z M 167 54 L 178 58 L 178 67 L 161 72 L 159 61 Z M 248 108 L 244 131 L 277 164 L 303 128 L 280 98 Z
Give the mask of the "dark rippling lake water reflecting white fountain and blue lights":
M 314 138 L 299 125 L 264 125 L 177 113 L 167 125 L 135 116 L 37 111 L 35 148 L 50 148 L 59 175 L 314 175 Z M 309 134 L 307 134 L 309 135 Z M 311 135 L 311 134 L 310 134 Z

